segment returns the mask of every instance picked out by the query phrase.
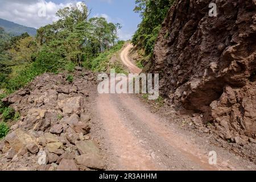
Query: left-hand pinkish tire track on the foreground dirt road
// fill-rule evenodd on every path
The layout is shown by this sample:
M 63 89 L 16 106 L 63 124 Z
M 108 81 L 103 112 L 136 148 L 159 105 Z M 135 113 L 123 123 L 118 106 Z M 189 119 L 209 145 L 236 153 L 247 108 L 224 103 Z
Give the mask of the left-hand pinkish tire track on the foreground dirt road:
M 129 171 L 160 169 L 151 160 L 147 151 L 139 146 L 137 138 L 123 125 L 122 118 L 117 113 L 118 107 L 113 105 L 109 97 L 109 94 L 101 94 L 98 97 L 97 110 L 105 126 L 108 140 L 114 147 L 112 148 L 113 156 L 119 156 L 118 159 L 113 159 L 113 167 Z

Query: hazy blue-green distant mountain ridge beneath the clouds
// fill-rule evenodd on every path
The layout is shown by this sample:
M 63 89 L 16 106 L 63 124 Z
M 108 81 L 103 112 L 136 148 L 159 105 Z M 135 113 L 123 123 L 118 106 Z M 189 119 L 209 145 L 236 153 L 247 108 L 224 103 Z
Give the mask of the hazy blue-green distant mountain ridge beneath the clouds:
M 13 34 L 15 36 L 21 35 L 25 32 L 27 32 L 31 36 L 36 35 L 36 28 L 22 26 L 20 24 L 10 22 L 2 18 L 0 18 L 0 27 L 3 27 L 5 29 L 5 32 Z

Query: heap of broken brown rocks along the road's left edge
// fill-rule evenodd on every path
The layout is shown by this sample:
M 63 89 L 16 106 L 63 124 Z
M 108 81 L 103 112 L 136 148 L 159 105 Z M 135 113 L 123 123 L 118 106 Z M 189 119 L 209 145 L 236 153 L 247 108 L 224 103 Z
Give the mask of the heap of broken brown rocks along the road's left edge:
M 21 117 L 0 141 L 2 170 L 105 169 L 98 143 L 90 139 L 90 97 L 96 80 L 77 68 L 68 74 L 45 73 L 4 98 Z

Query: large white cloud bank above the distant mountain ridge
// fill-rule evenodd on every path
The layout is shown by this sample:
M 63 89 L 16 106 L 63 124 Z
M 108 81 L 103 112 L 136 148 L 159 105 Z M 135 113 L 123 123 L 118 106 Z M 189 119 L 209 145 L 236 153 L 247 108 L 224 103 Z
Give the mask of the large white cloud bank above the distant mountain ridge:
M 10 20 L 28 27 L 39 28 L 55 22 L 57 10 L 70 6 L 70 3 L 54 3 L 44 0 L 0 0 L 0 18 Z M 44 15 L 45 10 L 45 16 Z

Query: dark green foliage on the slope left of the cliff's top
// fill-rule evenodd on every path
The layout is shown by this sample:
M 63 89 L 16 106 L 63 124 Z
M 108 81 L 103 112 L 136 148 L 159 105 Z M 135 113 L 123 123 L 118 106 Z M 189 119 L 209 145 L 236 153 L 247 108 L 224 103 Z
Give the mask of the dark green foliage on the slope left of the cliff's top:
M 132 43 L 145 49 L 149 55 L 158 37 L 161 24 L 175 0 L 136 0 L 134 11 L 141 14 L 142 22 L 133 36 Z

